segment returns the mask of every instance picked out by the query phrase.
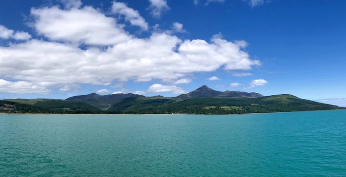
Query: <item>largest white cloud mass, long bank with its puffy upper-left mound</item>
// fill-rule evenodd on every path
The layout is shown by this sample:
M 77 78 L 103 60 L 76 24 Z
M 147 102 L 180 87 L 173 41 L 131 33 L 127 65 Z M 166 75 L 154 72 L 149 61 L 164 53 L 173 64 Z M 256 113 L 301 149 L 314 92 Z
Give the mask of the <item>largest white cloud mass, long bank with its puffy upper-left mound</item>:
M 32 8 L 31 16 L 31 27 L 48 40 L 34 38 L 0 46 L 0 78 L 44 88 L 114 82 L 113 87 L 122 87 L 128 80 L 173 80 L 175 84 L 187 82 L 181 79 L 194 72 L 251 70 L 260 65 L 222 35 L 210 42 L 158 32 L 138 38 L 116 18 L 91 6 Z

